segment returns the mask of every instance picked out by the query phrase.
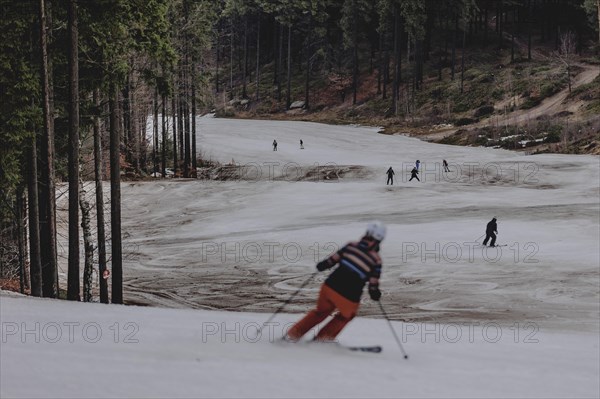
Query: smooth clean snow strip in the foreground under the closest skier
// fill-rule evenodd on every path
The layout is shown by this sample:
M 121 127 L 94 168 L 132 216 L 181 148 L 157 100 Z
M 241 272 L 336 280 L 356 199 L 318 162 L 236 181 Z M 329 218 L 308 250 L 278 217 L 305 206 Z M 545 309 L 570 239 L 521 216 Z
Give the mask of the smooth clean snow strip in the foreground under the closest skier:
M 265 315 L 70 303 L 0 295 L 0 396 L 12 397 L 598 397 L 598 336 L 492 325 L 357 319 L 346 344 L 269 343 L 296 320 Z M 436 333 L 437 328 L 437 333 Z M 499 337 L 499 333 L 502 334 Z M 527 336 L 531 335 L 531 336 Z M 36 339 L 39 342 L 36 342 Z M 436 339 L 439 342 L 436 342 Z M 495 342 L 497 341 L 497 342 Z M 529 342 L 531 341 L 531 342 Z

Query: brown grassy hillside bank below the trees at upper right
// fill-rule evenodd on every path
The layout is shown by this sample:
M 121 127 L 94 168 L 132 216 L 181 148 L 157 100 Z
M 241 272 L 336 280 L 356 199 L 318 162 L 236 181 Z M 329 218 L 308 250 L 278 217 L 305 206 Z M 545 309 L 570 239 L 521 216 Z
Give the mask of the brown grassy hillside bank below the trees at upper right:
M 276 101 L 275 88 L 262 84 L 260 101 L 252 99 L 254 86 L 249 85 L 246 101 L 217 96 L 216 112 L 226 117 L 380 126 L 382 133 L 444 144 L 600 154 L 600 58 L 571 56 L 569 82 L 564 60 L 551 45 L 536 47 L 531 60 L 525 54 L 522 43 L 513 61 L 507 47 L 467 49 L 462 92 L 460 66 L 451 79 L 450 67 L 440 74 L 433 63 L 426 64 L 422 87 L 414 91 L 413 62 L 406 63 L 403 71 L 408 77 L 400 88 L 398 116 L 390 108 L 391 93 L 387 99 L 378 94 L 382 86 L 376 66 L 367 69 L 364 63 L 355 105 L 348 77 L 316 73 L 308 110 L 285 110 L 285 104 Z M 272 79 L 272 67 L 262 70 L 261 82 Z M 293 84 L 297 95 L 292 101 L 302 104 L 304 82 L 296 79 Z

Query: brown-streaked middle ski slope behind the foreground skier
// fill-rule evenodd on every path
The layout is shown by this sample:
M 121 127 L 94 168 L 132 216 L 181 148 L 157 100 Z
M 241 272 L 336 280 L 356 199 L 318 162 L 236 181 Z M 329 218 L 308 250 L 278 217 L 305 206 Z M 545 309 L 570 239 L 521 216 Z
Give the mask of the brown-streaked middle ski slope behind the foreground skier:
M 203 117 L 197 131 L 199 153 L 235 163 L 237 174 L 123 183 L 129 303 L 272 312 L 334 245 L 380 219 L 388 225 L 382 300 L 393 318 L 599 331 L 598 157 L 526 156 L 307 122 Z M 416 159 L 423 181 L 408 182 Z M 390 165 L 394 186 L 385 185 Z M 496 260 L 473 246 L 493 216 L 507 244 Z M 286 310 L 311 307 L 325 277 Z M 363 302 L 360 315 L 380 317 Z

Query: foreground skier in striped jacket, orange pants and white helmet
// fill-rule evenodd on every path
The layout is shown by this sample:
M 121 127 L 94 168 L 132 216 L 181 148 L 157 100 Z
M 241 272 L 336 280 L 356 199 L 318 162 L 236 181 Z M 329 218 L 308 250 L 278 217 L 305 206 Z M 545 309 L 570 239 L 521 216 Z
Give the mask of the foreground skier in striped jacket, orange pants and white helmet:
M 350 242 L 329 258 L 317 264 L 317 270 L 339 266 L 321 285 L 317 307 L 306 314 L 287 333 L 286 339 L 297 341 L 311 328 L 321 323 L 336 310 L 335 316 L 315 337 L 316 341 L 333 341 L 354 318 L 360 305 L 363 288 L 368 283 L 369 296 L 378 301 L 381 258 L 379 244 L 385 238 L 386 228 L 381 222 L 372 222 L 359 242 Z

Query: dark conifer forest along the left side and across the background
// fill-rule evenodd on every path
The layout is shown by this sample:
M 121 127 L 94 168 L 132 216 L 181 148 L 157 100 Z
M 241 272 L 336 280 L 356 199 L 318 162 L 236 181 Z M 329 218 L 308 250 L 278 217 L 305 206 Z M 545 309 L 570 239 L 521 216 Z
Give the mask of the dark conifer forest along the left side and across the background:
M 0 285 L 75 301 L 123 303 L 121 182 L 198 178 L 207 160 L 197 116 L 460 126 L 505 94 L 489 89 L 505 84 L 500 53 L 529 73 L 511 80 L 521 95 L 510 106 L 523 109 L 570 91 L 581 60 L 600 64 L 599 0 L 0 0 L 0 9 Z M 596 78 L 575 93 L 592 120 L 578 129 L 596 136 L 599 87 Z M 560 126 L 548 129 L 568 140 Z M 57 223 L 68 225 L 65 281 Z

